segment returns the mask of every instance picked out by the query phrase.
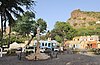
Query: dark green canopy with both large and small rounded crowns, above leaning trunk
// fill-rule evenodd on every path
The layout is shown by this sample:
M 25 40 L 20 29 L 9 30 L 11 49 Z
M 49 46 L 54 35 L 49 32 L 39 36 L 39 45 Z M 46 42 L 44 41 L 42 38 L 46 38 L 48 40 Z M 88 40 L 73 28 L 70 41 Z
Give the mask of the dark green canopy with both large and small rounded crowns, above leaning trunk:
M 25 12 L 24 15 L 16 20 L 13 31 L 18 32 L 23 36 L 25 36 L 26 34 L 30 34 L 30 32 L 33 32 L 34 35 L 36 35 L 36 29 L 40 26 L 41 32 L 44 32 L 47 28 L 46 22 L 41 18 L 35 21 L 33 17 L 34 14 L 32 12 Z

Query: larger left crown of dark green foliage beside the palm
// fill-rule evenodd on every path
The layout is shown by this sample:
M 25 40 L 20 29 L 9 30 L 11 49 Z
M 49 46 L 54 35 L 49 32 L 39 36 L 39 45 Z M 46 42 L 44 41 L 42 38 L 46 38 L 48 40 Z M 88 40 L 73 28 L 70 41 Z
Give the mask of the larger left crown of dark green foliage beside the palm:
M 22 15 L 16 20 L 15 26 L 13 27 L 13 31 L 18 32 L 20 35 L 23 36 L 26 36 L 26 34 L 28 35 L 31 31 L 33 31 L 33 24 L 36 23 L 33 18 L 34 13 L 29 11 L 25 12 L 24 15 Z

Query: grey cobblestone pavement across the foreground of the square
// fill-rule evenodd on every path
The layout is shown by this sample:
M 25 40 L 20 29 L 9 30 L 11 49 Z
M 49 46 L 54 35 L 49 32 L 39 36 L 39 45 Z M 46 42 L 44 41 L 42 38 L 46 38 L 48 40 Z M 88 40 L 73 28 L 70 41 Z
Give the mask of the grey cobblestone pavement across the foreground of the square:
M 61 54 L 57 58 L 41 61 L 18 60 L 17 56 L 3 56 L 0 65 L 100 65 L 100 56 Z

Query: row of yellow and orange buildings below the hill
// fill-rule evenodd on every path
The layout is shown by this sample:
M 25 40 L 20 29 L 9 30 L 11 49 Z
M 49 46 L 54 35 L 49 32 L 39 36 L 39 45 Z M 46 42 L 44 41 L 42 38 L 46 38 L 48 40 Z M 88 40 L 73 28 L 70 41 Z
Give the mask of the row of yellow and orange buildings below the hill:
M 97 41 L 99 41 L 99 36 L 79 36 L 74 37 L 73 40 L 66 41 L 65 45 L 70 48 L 78 48 L 78 49 L 88 49 L 88 48 L 96 48 Z M 98 44 L 100 47 L 100 45 Z

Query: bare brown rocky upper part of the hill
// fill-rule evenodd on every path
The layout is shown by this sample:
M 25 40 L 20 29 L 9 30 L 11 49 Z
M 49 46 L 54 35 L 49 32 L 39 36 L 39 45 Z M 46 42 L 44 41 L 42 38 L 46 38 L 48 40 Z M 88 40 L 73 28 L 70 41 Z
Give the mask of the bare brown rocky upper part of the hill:
M 100 12 L 74 10 L 67 20 L 74 28 L 89 27 L 100 24 Z

